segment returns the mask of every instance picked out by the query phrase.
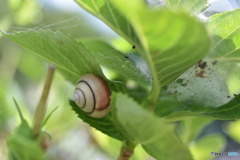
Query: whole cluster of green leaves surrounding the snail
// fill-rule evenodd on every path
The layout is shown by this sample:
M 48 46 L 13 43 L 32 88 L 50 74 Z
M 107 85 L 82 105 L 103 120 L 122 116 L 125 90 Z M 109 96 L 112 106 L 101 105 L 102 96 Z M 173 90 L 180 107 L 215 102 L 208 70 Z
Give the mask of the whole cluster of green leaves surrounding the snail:
M 177 93 L 168 94 L 166 89 L 166 86 L 178 83 L 177 78 L 203 58 L 232 65 L 240 59 L 237 38 L 239 10 L 210 17 L 206 27 L 196 17 L 178 10 L 184 8 L 197 13 L 205 7 L 205 1 L 167 0 L 168 8 L 152 8 L 139 0 L 76 2 L 136 46 L 136 51 L 149 66 L 151 80 L 123 53 L 103 41 L 76 41 L 60 31 L 41 29 L 3 34 L 54 64 L 73 84 L 86 73 L 104 77 L 100 67 L 104 66 L 118 74 L 124 83 L 133 80 L 139 86 L 152 87 L 151 92 L 146 90 L 147 96 L 140 104 L 135 101 L 138 97 L 130 97 L 122 84 L 105 78 L 112 90 L 110 114 L 94 119 L 70 102 L 83 121 L 113 138 L 133 145 L 141 144 L 156 159 L 191 160 L 193 158 L 187 146 L 175 134 L 174 124 L 168 122 L 187 116 L 223 120 L 240 117 L 240 96 L 213 108 L 214 105 L 189 103 L 188 99 L 179 98 Z M 221 66 L 219 70 L 224 71 Z M 201 74 L 197 74 L 201 76 L 196 78 L 206 78 L 202 75 L 204 73 L 202 70 Z M 199 93 L 199 97 L 205 94 L 207 89 Z

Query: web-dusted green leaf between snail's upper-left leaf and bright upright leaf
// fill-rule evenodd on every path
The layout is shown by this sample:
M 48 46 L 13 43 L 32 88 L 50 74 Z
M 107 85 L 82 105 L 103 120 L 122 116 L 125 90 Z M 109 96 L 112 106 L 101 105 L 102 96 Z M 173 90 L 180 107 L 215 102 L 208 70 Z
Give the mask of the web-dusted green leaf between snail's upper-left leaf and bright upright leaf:
M 143 75 L 131 60 L 124 57 L 124 54 L 109 44 L 97 40 L 82 41 L 82 43 L 92 51 L 92 54 L 100 65 L 116 72 L 121 79 L 125 81 L 129 79 L 134 80 L 144 87 L 150 84 L 146 75 Z

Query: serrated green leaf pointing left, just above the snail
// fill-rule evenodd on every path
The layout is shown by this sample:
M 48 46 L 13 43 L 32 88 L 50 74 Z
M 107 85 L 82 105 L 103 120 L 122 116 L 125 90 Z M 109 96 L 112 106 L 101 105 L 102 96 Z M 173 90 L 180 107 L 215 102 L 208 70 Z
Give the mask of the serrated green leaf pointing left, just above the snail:
M 103 76 L 97 61 L 83 44 L 64 33 L 50 30 L 30 30 L 5 34 L 15 43 L 54 64 L 66 79 L 76 83 L 81 75 Z

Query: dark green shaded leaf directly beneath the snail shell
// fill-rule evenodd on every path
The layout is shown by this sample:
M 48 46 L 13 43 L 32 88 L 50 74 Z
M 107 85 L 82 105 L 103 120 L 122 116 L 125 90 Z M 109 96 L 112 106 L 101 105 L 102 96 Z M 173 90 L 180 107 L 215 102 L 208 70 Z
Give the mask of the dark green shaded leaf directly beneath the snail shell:
M 122 134 L 117 130 L 115 124 L 112 121 L 111 113 L 108 114 L 104 118 L 92 118 L 88 116 L 85 112 L 83 112 L 73 101 L 70 101 L 70 105 L 72 109 L 76 112 L 79 118 L 81 118 L 84 122 L 88 123 L 90 126 L 96 128 L 97 130 L 103 132 L 104 134 L 118 139 L 123 140 L 124 137 Z

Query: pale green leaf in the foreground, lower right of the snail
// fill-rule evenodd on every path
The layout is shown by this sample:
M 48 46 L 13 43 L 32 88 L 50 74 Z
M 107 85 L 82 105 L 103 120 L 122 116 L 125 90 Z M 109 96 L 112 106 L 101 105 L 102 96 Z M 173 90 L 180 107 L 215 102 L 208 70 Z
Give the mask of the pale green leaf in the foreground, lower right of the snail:
M 176 136 L 173 124 L 166 124 L 121 93 L 114 93 L 112 101 L 124 135 L 141 144 L 151 156 L 164 160 L 192 159 L 187 147 Z

